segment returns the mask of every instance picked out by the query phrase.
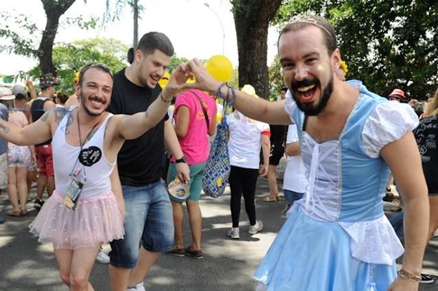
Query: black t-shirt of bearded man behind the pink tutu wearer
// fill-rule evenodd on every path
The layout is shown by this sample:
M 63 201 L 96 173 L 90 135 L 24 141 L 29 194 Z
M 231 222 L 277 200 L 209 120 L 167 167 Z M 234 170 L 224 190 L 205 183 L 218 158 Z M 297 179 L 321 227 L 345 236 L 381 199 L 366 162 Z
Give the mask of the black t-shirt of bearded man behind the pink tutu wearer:
M 132 115 L 146 110 L 157 99 L 160 86 L 150 89 L 137 86 L 125 76 L 125 69 L 115 73 L 111 104 L 113 114 Z M 117 165 L 122 185 L 141 186 L 161 178 L 161 163 L 164 150 L 164 121 L 166 114 L 154 128 L 137 139 L 124 142 L 117 156 Z

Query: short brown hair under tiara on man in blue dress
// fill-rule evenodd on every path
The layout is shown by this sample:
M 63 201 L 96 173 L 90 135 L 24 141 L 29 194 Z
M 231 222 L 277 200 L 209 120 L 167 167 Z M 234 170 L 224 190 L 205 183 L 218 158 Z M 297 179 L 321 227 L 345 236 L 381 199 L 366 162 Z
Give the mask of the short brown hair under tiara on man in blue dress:
M 286 32 L 296 32 L 310 25 L 318 27 L 321 32 L 323 32 L 325 45 L 327 46 L 328 53 L 331 55 L 338 47 L 336 43 L 336 32 L 334 31 L 332 23 L 318 15 L 304 14 L 292 17 L 290 23 L 286 24 L 283 30 L 281 30 L 278 39 Z

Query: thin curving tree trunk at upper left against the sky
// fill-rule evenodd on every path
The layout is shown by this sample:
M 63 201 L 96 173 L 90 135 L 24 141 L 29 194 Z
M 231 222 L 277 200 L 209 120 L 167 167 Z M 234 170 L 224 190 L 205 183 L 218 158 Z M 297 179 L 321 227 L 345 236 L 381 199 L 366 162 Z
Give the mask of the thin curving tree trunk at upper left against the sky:
M 51 53 L 53 51 L 56 32 L 58 31 L 59 19 L 75 1 L 76 0 L 41 0 L 45 14 L 47 15 L 47 23 L 40 46 L 38 47 L 40 70 L 43 74 L 53 73 L 54 76 L 56 76 L 56 68 L 51 59 Z

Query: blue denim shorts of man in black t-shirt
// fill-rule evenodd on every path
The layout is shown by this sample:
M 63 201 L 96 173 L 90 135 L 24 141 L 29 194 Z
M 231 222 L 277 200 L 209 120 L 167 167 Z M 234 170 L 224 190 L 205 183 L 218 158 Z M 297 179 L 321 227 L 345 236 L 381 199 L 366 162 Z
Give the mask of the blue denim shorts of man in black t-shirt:
M 132 269 L 137 265 L 139 246 L 146 251 L 172 250 L 174 223 L 172 205 L 163 181 L 146 186 L 122 185 L 126 208 L 125 236 L 111 242 L 111 265 Z

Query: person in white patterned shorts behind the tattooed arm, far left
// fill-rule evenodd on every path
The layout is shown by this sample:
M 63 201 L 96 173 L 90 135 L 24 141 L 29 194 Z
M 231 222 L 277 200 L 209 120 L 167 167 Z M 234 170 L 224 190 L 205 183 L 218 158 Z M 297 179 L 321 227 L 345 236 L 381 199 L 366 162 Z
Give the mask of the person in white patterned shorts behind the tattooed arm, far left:
M 8 89 L 9 90 L 9 89 Z M 24 97 L 24 88 L 15 85 L 12 88 L 20 98 Z M 9 91 L 10 92 L 10 91 Z M 0 97 L 0 103 L 8 107 L 8 121 L 18 128 L 27 126 L 28 121 L 25 114 L 16 108 L 16 95 L 10 92 L 10 95 Z M 25 216 L 27 215 L 27 167 L 36 161 L 34 146 L 17 146 L 14 143 L 8 143 L 8 197 L 12 209 L 8 211 L 8 216 Z

